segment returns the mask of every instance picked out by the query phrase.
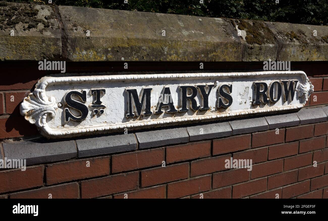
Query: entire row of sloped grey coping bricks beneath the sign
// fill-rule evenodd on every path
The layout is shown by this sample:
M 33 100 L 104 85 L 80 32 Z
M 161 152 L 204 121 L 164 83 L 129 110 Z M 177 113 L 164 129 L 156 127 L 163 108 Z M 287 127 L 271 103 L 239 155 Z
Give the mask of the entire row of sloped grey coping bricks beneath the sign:
M 268 129 L 297 126 L 299 124 L 327 121 L 328 106 L 307 108 L 297 113 L 265 116 L 229 122 L 208 123 L 171 129 L 154 129 L 135 134 L 87 137 L 58 142 L 3 142 L 8 159 L 26 159 L 27 165 L 67 160 L 75 157 L 91 157 L 118 152 L 182 144 L 189 141 L 228 137 Z M 201 134 L 202 132 L 202 134 Z M 76 142 L 76 144 L 75 144 Z

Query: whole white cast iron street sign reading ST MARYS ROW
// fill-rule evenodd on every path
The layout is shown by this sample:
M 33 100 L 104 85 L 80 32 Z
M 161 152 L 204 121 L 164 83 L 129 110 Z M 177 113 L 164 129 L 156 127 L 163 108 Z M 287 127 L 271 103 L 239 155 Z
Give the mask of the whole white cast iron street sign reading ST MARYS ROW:
M 312 92 L 303 71 L 43 77 L 20 111 L 75 137 L 299 109 Z

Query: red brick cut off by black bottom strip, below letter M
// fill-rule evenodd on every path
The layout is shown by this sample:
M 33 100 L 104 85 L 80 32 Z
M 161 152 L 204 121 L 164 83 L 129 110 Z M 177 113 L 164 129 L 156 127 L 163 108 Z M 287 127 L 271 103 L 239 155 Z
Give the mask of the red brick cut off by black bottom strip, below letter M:
M 164 199 L 165 198 L 165 185 L 152 187 L 148 189 L 141 189 L 137 191 L 133 191 L 130 193 L 122 193 L 114 195 L 114 199 L 124 199 L 124 197 L 128 199 Z

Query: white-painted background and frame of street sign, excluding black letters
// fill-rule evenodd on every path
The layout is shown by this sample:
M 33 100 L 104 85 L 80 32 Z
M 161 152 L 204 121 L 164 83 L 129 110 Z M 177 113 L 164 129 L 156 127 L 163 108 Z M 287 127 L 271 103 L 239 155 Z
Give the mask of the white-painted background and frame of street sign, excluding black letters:
M 296 93 L 293 101 L 284 102 L 281 98 L 276 103 L 254 106 L 254 82 L 297 80 Z M 164 86 L 170 87 L 173 102 L 179 109 L 179 85 L 215 84 L 209 95 L 210 110 L 153 114 L 139 118 L 126 118 L 128 95 L 126 88 L 137 89 L 152 87 L 151 111 L 154 112 L 158 95 Z M 233 84 L 231 96 L 233 102 L 225 110 L 217 108 L 216 90 L 222 84 Z M 95 115 L 90 109 L 94 97 L 89 93 L 94 88 L 105 88 L 101 101 L 106 105 L 102 115 Z M 85 120 L 68 122 L 64 119 L 64 109 L 67 104 L 64 96 L 68 91 L 86 90 L 89 113 Z M 144 129 L 199 121 L 213 121 L 223 118 L 233 118 L 240 115 L 261 114 L 266 112 L 288 111 L 304 106 L 313 92 L 313 85 L 302 71 L 262 71 L 235 73 L 189 73 L 189 74 L 145 74 L 145 75 L 99 75 L 79 77 L 44 77 L 37 84 L 33 93 L 21 104 L 21 114 L 30 123 L 40 128 L 47 138 L 76 137 L 91 134 L 101 134 L 123 131 L 124 128 Z M 197 105 L 202 105 L 200 93 L 196 96 Z M 189 105 L 188 105 L 189 107 Z M 163 108 L 164 111 L 165 108 Z M 70 109 L 72 114 L 80 113 Z

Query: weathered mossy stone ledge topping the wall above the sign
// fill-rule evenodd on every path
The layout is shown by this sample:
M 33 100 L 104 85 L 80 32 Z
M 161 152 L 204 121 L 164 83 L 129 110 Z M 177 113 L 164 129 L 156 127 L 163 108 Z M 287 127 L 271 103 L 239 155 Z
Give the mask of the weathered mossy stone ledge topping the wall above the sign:
M 23 3 L 0 12 L 0 60 L 328 60 L 327 26 Z

